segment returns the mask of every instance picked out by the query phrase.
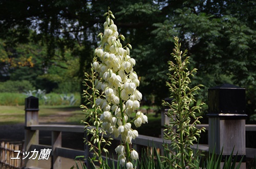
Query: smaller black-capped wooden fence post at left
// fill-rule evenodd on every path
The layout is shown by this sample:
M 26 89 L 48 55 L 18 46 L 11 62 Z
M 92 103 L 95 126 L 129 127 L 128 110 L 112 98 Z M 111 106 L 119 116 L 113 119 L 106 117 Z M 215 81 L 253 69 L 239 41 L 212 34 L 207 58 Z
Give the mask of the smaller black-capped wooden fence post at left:
M 25 153 L 31 151 L 31 145 L 39 143 L 39 131 L 30 129 L 31 125 L 38 124 L 38 108 L 38 98 L 30 96 L 25 99 Z M 24 163 L 26 167 L 36 167 L 38 160 L 25 158 Z

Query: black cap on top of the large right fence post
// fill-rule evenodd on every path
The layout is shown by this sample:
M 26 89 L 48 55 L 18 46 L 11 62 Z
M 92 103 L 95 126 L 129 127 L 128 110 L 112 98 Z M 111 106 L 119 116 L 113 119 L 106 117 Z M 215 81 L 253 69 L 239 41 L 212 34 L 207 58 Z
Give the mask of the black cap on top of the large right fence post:
M 208 89 L 208 116 L 245 115 L 245 88 L 224 83 Z

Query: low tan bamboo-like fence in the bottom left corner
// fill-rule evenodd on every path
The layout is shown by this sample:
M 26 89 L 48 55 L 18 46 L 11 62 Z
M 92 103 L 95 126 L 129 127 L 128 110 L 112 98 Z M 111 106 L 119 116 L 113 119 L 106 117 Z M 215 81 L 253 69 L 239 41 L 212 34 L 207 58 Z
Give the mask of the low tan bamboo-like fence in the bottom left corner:
M 13 145 L 2 142 L 0 147 L 0 166 L 4 165 L 9 168 L 21 168 L 22 167 L 22 152 L 20 151 L 21 146 Z M 21 153 L 17 157 L 17 153 L 14 151 L 20 151 Z M 12 159 L 11 159 L 12 158 Z

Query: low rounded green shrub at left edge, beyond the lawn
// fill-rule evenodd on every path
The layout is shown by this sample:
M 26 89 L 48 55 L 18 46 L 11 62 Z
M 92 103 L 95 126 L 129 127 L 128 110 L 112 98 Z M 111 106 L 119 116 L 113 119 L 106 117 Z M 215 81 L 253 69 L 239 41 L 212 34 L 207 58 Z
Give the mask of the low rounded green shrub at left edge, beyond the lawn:
M 28 80 L 0 82 L 0 93 L 22 93 L 27 90 L 34 90 L 34 87 Z

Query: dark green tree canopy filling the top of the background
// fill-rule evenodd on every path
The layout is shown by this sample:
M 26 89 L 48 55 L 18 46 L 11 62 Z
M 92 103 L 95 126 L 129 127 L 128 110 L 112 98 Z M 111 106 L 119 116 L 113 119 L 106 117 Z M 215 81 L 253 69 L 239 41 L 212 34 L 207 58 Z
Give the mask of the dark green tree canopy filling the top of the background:
M 119 32 L 134 44 L 131 52 L 138 62 L 143 96 L 153 94 L 158 103 L 167 97 L 166 63 L 173 37 L 178 36 L 189 51 L 190 67 L 199 69 L 192 81 L 205 86 L 201 98 L 207 98 L 207 88 L 230 82 L 248 89 L 247 114 L 256 109 L 252 105 L 256 101 L 256 1 L 2 0 L 0 5 L 0 36 L 7 46 L 39 41 L 47 46 L 46 67 L 51 59 L 72 60 L 64 57 L 69 50 L 77 60 L 73 73 L 78 81 L 90 67 L 97 32 L 102 29 L 101 14 L 110 7 Z

